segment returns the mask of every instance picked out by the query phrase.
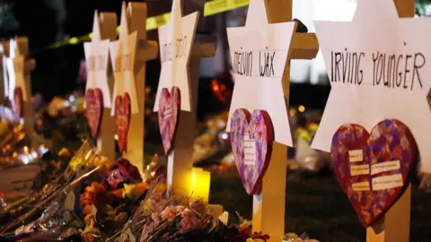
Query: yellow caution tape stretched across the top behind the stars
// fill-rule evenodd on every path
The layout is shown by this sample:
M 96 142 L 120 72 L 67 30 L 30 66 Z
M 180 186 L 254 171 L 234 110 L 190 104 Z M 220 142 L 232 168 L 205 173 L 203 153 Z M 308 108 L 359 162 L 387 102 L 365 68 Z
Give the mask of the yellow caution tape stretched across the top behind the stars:
M 250 3 L 250 0 L 213 0 L 207 2 L 204 6 L 204 16 L 211 16 L 217 13 L 224 13 L 227 11 L 231 11 L 235 8 L 240 8 L 246 6 Z M 171 13 L 163 13 L 154 17 L 150 17 L 146 19 L 146 30 L 156 30 L 160 26 L 169 22 L 171 18 Z M 117 27 L 117 32 L 119 33 L 119 26 Z M 64 46 L 71 46 L 83 43 L 85 41 L 89 41 L 92 39 L 92 33 L 86 34 L 80 37 L 73 37 L 67 39 L 66 41 L 57 42 L 49 45 L 48 48 L 60 48 Z

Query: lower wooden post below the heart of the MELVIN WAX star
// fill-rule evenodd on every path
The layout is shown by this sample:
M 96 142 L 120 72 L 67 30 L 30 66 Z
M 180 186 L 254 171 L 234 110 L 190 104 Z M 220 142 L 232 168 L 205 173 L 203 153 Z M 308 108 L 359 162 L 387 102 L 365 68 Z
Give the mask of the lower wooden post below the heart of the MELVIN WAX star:
M 280 241 L 285 234 L 287 146 L 274 143 L 272 156 L 262 181 L 262 193 L 253 196 L 253 232 L 268 234 Z

